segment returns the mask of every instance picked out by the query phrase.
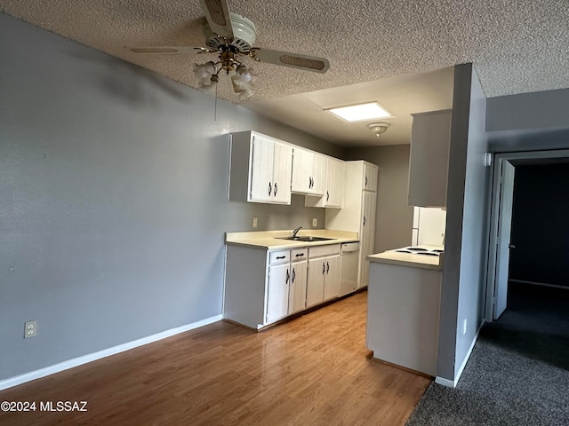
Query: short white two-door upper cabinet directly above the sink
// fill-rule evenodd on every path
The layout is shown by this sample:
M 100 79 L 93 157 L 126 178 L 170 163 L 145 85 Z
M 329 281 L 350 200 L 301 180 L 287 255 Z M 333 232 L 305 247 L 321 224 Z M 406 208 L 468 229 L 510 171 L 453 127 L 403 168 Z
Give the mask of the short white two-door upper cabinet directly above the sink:
M 293 149 L 293 193 L 323 195 L 325 190 L 325 155 L 308 149 Z

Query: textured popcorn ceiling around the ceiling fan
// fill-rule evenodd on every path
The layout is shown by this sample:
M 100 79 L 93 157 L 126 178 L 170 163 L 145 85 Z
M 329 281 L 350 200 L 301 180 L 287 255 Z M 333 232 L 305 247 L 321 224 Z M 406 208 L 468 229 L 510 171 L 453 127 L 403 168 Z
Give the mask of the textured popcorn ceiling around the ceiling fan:
M 488 97 L 569 87 L 567 0 L 228 3 L 230 11 L 246 16 L 257 26 L 255 45 L 330 59 L 331 67 L 325 75 L 252 63 L 258 75 L 252 100 L 236 97 L 221 78 L 220 98 L 244 102 L 258 110 L 263 109 L 258 101 L 269 102 L 276 118 L 284 121 L 290 117 L 278 115 L 278 99 L 283 99 L 286 110 L 286 105 L 290 109 L 287 97 L 294 99 L 293 95 L 466 62 L 474 63 Z M 198 54 L 143 55 L 124 48 L 204 45 L 203 12 L 197 0 L 0 0 L 0 10 L 191 87 L 196 87 L 192 64 L 213 58 Z M 330 91 L 328 98 L 332 94 Z M 436 98 L 437 93 L 432 96 Z M 381 93 L 374 98 L 382 103 Z M 336 99 L 338 105 L 344 100 L 340 95 Z M 348 96 L 345 100 L 351 103 L 357 99 Z M 405 114 L 410 112 L 418 111 Z M 390 131 L 385 134 L 386 140 Z

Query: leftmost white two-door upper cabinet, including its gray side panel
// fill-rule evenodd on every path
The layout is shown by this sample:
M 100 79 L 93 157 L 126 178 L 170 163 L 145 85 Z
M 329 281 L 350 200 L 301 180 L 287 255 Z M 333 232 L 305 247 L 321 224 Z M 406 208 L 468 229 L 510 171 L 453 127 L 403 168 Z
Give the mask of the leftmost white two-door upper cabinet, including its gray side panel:
M 254 131 L 231 135 L 230 201 L 291 203 L 293 146 Z

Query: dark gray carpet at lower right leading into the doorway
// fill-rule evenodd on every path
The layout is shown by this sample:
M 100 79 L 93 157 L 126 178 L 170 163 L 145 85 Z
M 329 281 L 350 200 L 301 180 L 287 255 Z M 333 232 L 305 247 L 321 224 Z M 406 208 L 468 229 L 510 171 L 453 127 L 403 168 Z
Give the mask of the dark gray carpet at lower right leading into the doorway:
M 569 290 L 511 283 L 457 387 L 431 383 L 406 425 L 569 425 Z

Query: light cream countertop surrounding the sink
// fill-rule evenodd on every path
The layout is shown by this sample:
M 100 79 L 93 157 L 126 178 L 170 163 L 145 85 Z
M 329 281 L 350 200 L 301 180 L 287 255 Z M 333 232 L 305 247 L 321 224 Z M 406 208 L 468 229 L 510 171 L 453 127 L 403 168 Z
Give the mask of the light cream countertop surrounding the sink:
M 327 241 L 290 241 L 280 240 L 279 237 L 290 237 L 293 230 L 282 231 L 257 231 L 246 233 L 225 233 L 225 243 L 236 246 L 247 246 L 253 248 L 265 248 L 268 250 L 278 250 L 286 248 L 301 248 L 313 246 L 325 246 L 328 244 L 341 244 L 343 242 L 359 241 L 357 233 L 346 231 L 331 231 L 328 229 L 301 229 L 297 235 L 310 235 L 314 237 L 325 237 L 333 240 Z

